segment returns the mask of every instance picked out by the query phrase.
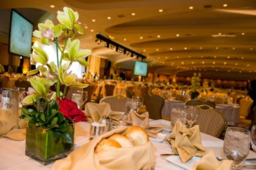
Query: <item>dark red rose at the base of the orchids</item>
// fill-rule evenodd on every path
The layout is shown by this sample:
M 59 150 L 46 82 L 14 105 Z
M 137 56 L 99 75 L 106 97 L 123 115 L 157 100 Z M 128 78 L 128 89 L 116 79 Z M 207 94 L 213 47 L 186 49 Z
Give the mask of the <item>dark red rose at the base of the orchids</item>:
M 86 115 L 81 111 L 75 102 L 68 98 L 57 98 L 60 105 L 60 110 L 67 120 L 74 120 L 75 122 L 87 121 Z

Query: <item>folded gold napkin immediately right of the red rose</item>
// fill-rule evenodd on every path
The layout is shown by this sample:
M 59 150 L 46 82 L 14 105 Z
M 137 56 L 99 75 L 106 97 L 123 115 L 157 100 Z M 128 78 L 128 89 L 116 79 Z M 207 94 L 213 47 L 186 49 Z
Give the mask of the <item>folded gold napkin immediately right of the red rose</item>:
M 111 117 L 113 119 L 113 124 L 118 125 L 119 120 L 123 117 L 121 112 L 111 111 L 110 105 L 104 102 L 100 104 L 88 102 L 84 107 L 84 113 L 90 123 L 101 122 L 102 116 L 105 115 L 106 118 Z

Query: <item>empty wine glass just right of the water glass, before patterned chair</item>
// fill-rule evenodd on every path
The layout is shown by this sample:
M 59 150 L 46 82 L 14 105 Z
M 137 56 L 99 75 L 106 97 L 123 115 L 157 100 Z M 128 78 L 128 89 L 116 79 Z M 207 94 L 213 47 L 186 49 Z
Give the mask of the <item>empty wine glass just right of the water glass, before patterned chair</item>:
M 185 111 L 188 128 L 191 128 L 199 116 L 199 109 L 196 105 L 185 105 Z

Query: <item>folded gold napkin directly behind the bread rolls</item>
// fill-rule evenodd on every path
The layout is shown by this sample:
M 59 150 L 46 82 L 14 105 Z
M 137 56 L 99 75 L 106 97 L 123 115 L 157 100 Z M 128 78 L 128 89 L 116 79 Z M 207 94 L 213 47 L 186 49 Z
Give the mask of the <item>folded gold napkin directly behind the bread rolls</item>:
M 150 137 L 157 137 L 157 133 L 162 132 L 162 125 L 150 125 L 148 112 L 138 114 L 134 111 L 129 111 L 128 117 L 124 120 L 125 123 L 132 126 L 143 128 Z

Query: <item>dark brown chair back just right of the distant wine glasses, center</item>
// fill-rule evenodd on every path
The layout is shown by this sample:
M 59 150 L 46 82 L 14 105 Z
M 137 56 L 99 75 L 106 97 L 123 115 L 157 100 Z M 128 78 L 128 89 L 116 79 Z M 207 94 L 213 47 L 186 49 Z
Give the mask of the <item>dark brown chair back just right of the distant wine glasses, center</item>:
M 144 95 L 144 103 L 150 119 L 162 119 L 162 109 L 164 106 L 164 99 L 162 97 L 147 93 Z

